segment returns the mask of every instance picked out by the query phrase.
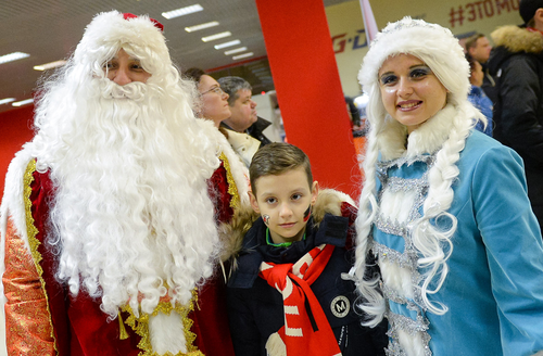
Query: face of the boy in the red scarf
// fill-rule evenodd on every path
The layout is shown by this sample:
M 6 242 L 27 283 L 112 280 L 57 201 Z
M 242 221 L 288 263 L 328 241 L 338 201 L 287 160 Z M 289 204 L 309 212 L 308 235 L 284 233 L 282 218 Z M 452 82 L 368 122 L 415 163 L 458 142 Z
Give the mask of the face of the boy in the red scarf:
M 318 183 L 310 187 L 305 169 L 299 167 L 281 175 L 263 176 L 255 181 L 256 196 L 250 192 L 251 206 L 261 214 L 274 243 L 300 241 L 315 204 Z

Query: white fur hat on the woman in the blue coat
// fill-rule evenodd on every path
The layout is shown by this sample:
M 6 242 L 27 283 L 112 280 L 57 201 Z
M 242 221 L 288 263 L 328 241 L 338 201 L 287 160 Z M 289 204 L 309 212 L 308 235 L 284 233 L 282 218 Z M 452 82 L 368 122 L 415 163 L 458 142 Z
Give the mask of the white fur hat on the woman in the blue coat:
M 412 54 L 428 65 L 441 84 L 450 91 L 447 101 L 466 100 L 470 89 L 469 64 L 464 50 L 449 28 L 408 16 L 389 23 L 369 47 L 364 58 L 358 81 L 368 93 L 379 86 L 378 72 L 391 55 Z

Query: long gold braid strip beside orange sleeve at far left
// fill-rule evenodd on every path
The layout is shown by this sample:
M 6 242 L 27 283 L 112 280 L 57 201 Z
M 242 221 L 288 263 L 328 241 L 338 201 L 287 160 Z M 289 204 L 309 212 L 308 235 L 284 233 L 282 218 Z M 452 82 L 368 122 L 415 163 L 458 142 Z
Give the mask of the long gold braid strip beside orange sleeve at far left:
M 26 233 L 28 234 L 28 244 L 30 245 L 30 253 L 33 255 L 34 264 L 36 265 L 36 270 L 39 275 L 39 281 L 41 283 L 41 290 L 43 291 L 43 296 L 47 301 L 47 313 L 49 314 L 49 325 L 51 326 L 51 339 L 53 340 L 53 347 L 56 354 L 59 354 L 59 349 L 56 347 L 56 339 L 54 338 L 53 322 L 51 320 L 51 309 L 49 308 L 49 297 L 46 291 L 46 281 L 43 280 L 43 269 L 40 266 L 41 259 L 43 257 L 38 251 L 38 246 L 41 244 L 36 236 L 38 234 L 38 229 L 34 225 L 34 217 L 31 213 L 33 203 L 30 201 L 30 194 L 33 189 L 30 187 L 34 181 L 34 173 L 36 171 L 36 160 L 30 160 L 28 165 L 26 166 L 25 175 L 23 177 L 24 183 L 24 200 L 25 200 L 25 212 L 26 212 Z

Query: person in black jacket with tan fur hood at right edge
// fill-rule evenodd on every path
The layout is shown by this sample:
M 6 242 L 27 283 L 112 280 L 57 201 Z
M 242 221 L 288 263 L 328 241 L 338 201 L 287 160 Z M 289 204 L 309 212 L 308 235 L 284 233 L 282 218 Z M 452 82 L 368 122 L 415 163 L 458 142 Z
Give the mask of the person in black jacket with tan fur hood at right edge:
M 515 149 L 526 165 L 528 195 L 543 225 L 543 0 L 521 0 L 523 26 L 494 30 L 489 60 L 498 87 L 494 138 Z M 507 189 L 507 187 L 504 187 Z

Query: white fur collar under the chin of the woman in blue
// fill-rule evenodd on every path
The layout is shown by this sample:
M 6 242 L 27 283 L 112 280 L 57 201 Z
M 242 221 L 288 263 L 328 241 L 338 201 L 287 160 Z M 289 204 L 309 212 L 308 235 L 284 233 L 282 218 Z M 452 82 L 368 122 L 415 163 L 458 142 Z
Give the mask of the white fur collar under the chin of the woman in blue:
M 447 104 L 408 137 L 407 128 L 387 115 L 384 128 L 377 135 L 377 144 L 382 160 L 390 161 L 402 156 L 414 157 L 439 150 L 455 126 L 456 114 L 456 109 L 452 104 Z M 407 148 L 405 147 L 406 142 Z

